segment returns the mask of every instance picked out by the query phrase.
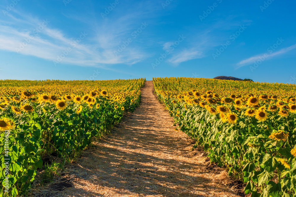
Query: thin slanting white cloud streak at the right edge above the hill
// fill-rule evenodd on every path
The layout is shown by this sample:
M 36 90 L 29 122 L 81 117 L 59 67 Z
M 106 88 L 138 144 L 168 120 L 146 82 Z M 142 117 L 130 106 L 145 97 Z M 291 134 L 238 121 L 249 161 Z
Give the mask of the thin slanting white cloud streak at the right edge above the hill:
M 247 58 L 247 59 L 244 59 L 242 61 L 240 61 L 239 63 L 237 63 L 237 68 L 240 68 L 242 66 L 246 66 L 246 65 L 249 65 L 249 64 L 252 64 L 254 63 L 254 61 L 257 61 L 257 60 L 260 60 L 260 58 L 262 59 L 262 57 L 264 57 L 264 54 L 265 54 L 265 59 L 272 59 L 276 56 L 280 56 L 280 55 L 283 55 L 293 49 L 296 48 L 296 44 L 295 45 L 292 45 L 292 46 L 289 46 L 287 48 L 283 48 L 277 52 L 273 52 L 273 53 L 262 53 L 260 55 L 256 55 L 256 56 L 252 56 L 250 58 Z

